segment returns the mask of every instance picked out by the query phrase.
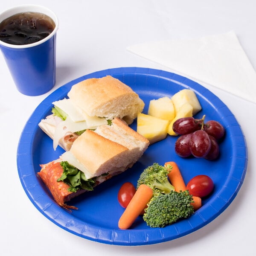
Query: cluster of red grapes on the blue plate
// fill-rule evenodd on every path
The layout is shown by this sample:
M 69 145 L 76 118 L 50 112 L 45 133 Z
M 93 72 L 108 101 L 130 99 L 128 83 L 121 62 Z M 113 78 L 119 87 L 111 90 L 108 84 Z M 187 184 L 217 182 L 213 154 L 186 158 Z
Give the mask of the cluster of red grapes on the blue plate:
M 218 141 L 224 136 L 225 129 L 217 121 L 204 122 L 194 117 L 177 119 L 172 128 L 181 135 L 175 143 L 175 152 L 180 157 L 193 155 L 197 158 L 215 160 L 219 155 Z

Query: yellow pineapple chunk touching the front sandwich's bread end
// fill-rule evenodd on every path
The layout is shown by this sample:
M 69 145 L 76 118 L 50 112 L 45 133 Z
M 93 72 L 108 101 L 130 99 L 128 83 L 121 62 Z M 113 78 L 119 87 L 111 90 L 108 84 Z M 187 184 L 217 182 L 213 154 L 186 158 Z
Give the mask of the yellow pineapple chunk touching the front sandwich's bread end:
M 168 126 L 169 120 L 138 113 L 137 132 L 147 138 L 150 144 L 165 139 Z

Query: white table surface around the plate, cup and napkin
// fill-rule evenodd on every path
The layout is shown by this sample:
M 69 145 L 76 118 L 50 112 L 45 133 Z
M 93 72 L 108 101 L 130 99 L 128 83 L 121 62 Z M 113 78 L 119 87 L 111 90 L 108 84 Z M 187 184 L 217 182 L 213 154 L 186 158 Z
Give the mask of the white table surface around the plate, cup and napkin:
M 24 4 L 2 1 L 0 12 Z M 126 50 L 132 44 L 195 38 L 234 30 L 256 69 L 254 0 L 34 0 L 59 19 L 55 87 L 41 96 L 16 89 L 0 54 L 1 255 L 253 255 L 255 253 L 256 105 L 203 84 L 234 113 L 248 148 L 244 184 L 214 221 L 188 236 L 162 244 L 122 247 L 75 236 L 53 224 L 29 201 L 20 183 L 16 151 L 21 131 L 38 104 L 61 85 L 99 70 L 149 67 L 168 70 Z

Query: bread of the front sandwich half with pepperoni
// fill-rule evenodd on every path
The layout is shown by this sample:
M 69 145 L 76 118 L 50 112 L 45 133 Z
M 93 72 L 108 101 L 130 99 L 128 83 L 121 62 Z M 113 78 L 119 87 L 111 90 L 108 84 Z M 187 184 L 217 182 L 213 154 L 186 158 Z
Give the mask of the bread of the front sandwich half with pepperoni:
M 106 172 L 123 172 L 143 155 L 149 142 L 120 119 L 112 125 L 86 130 L 73 143 L 70 152 L 93 177 Z

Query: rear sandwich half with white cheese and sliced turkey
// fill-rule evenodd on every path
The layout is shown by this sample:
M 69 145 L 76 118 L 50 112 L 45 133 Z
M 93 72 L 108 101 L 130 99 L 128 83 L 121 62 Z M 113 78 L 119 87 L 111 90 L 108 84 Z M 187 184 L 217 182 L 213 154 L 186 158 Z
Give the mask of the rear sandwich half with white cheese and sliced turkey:
M 52 102 L 52 114 L 39 123 L 52 138 L 53 148 L 60 145 L 65 151 L 84 131 L 106 125 L 114 118 L 130 125 L 145 105 L 131 87 L 112 76 L 74 84 L 67 96 Z

